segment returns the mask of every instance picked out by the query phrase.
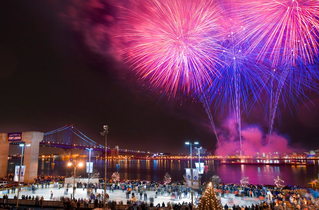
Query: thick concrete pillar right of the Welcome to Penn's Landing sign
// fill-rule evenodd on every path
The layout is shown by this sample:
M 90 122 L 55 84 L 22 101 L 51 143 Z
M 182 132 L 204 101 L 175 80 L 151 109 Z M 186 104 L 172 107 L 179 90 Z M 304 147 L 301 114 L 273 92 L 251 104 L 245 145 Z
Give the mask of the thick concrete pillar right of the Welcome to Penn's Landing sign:
M 22 132 L 22 141 L 31 146 L 26 146 L 23 165 L 26 166 L 24 181 L 33 180 L 38 175 L 39 143 L 43 140 L 41 132 Z

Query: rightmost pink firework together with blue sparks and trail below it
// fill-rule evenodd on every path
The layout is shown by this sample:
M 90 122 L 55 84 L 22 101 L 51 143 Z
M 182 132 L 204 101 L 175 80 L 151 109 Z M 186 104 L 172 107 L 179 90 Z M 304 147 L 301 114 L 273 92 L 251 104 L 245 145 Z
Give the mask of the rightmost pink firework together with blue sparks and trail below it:
M 259 62 L 269 60 L 273 67 L 281 66 L 271 72 L 271 92 L 267 102 L 269 146 L 278 103 L 281 97 L 284 99 L 283 92 L 287 88 L 290 98 L 293 99 L 293 94 L 299 98 L 303 89 L 312 85 L 307 85 L 307 82 L 300 84 L 300 80 L 307 81 L 309 76 L 303 75 L 303 65 L 299 69 L 299 78 L 293 67 L 300 63 L 313 63 L 318 54 L 318 6 L 317 0 L 257 0 L 245 3 L 246 18 L 243 24 L 249 29 L 245 39 L 252 39 L 252 51 L 259 52 L 256 59 Z M 295 93 L 291 92 L 292 89 Z M 296 99 L 293 103 L 296 106 Z

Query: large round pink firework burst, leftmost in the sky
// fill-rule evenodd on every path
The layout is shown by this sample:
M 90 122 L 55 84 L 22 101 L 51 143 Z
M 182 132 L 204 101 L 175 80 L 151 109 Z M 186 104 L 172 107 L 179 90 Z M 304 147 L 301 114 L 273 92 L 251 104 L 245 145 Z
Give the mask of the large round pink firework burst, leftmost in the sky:
M 168 95 L 202 91 L 219 76 L 220 8 L 209 0 L 133 1 L 128 10 L 127 48 L 122 51 L 143 81 Z

